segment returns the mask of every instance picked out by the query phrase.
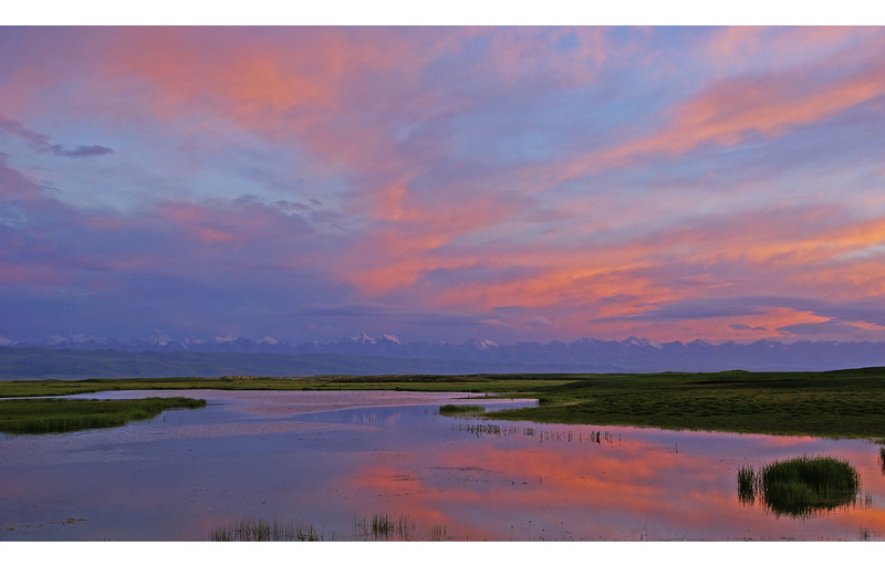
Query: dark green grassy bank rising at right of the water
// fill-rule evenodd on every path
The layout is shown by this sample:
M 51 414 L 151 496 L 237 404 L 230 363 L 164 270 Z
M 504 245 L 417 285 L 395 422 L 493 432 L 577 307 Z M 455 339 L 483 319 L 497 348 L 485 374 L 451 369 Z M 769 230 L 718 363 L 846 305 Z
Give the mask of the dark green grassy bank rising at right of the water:
M 885 369 L 600 375 L 539 389 L 496 418 L 747 433 L 885 438 Z

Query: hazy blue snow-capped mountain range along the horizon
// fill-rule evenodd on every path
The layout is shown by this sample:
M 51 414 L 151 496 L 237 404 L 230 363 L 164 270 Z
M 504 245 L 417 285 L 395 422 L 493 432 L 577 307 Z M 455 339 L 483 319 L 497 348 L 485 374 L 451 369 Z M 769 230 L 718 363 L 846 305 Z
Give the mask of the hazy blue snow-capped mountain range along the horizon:
M 1 347 L 52 349 L 195 353 L 273 353 L 283 355 L 357 355 L 404 360 L 458 360 L 508 365 L 556 365 L 575 371 L 716 371 L 831 370 L 885 366 L 885 343 L 759 340 L 714 345 L 704 340 L 655 343 L 645 338 L 624 340 L 581 338 L 500 345 L 475 338 L 466 343 L 403 343 L 394 335 L 360 334 L 337 343 L 291 344 L 273 337 L 252 340 L 228 334 L 208 338 L 173 338 L 157 330 L 140 338 L 96 338 L 91 335 L 53 335 L 39 343 L 0 337 Z M 583 369 L 583 370 L 582 370 Z

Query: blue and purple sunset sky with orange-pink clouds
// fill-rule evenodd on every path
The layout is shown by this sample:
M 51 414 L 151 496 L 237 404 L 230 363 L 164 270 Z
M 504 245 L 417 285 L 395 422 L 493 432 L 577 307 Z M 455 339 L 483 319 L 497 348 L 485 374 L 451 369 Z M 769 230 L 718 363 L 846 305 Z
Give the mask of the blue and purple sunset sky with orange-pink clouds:
M 885 28 L 0 28 L 0 336 L 885 340 Z

